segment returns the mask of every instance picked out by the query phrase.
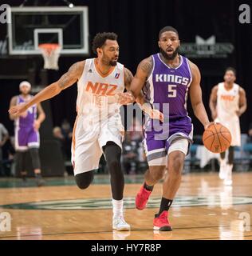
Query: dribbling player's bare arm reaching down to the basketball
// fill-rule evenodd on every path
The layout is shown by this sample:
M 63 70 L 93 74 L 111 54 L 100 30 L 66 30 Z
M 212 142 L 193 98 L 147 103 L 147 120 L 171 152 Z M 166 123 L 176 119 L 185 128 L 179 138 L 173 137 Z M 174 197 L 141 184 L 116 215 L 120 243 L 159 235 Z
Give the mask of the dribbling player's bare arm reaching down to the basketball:
M 210 125 L 209 119 L 207 117 L 207 112 L 202 101 L 202 90 L 200 87 L 200 73 L 199 68 L 194 63 L 190 62 L 192 81 L 190 86 L 190 98 L 191 106 L 195 113 L 196 118 L 203 124 L 204 128 Z

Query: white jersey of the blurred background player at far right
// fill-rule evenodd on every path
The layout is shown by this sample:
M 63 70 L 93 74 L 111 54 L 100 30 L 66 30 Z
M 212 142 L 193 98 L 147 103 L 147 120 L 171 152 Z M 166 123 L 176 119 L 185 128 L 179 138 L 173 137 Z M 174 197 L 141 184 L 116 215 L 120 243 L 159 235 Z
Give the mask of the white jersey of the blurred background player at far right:
M 239 86 L 234 83 L 230 90 L 226 90 L 224 82 L 219 83 L 217 92 L 217 113 L 220 120 L 238 118 L 239 110 Z

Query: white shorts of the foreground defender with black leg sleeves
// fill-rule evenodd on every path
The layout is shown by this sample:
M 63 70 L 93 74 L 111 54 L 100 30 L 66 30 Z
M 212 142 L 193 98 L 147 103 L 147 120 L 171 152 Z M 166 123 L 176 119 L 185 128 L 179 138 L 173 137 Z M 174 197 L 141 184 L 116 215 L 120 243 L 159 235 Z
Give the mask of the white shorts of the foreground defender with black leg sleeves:
M 73 128 L 72 164 L 74 175 L 99 168 L 102 147 L 115 142 L 122 148 L 124 127 L 120 114 L 93 123 L 93 118 L 80 114 Z

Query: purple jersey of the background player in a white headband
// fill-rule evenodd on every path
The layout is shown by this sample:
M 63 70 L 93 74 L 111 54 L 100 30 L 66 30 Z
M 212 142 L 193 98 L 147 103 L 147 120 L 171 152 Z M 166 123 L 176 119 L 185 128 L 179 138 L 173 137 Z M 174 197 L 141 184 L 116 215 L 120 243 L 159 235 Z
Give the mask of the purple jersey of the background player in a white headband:
M 32 96 L 30 96 L 31 98 Z M 29 99 L 30 99 L 29 98 Z M 22 103 L 22 102 L 26 102 L 21 95 L 18 95 L 18 101 L 17 101 L 17 105 Z M 19 117 L 16 119 L 15 121 L 15 125 L 20 127 L 20 128 L 33 128 L 33 122 L 34 120 L 36 120 L 37 118 L 37 106 L 31 106 L 28 110 L 27 110 L 27 115 L 26 118 L 22 118 Z

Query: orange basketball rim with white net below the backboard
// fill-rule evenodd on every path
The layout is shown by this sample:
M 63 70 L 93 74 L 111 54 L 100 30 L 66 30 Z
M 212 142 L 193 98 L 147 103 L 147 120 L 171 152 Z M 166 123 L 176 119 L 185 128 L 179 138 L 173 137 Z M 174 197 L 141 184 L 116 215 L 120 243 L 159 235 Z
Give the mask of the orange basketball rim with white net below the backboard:
M 46 70 L 58 70 L 57 65 L 58 58 L 61 53 L 61 46 L 57 43 L 42 43 L 38 45 L 44 58 L 44 69 Z

